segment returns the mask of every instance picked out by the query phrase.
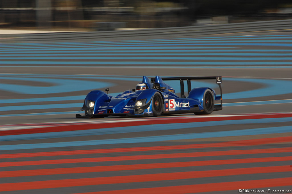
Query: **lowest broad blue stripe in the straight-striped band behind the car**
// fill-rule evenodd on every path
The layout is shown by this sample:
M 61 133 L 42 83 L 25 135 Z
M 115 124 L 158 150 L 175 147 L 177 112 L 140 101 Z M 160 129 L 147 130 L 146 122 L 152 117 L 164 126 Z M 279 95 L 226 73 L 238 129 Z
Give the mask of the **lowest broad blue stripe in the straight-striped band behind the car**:
M 291 65 L 291 62 L 166 62 L 166 61 L 1 61 L 2 64 L 43 64 L 43 65 Z M 5 67 L 4 65 L 0 67 Z M 11 67 L 11 66 L 6 66 Z M 21 67 L 21 66 L 20 66 Z M 36 67 L 36 66 L 32 66 Z M 68 67 L 68 66 L 66 66 Z M 74 67 L 74 66 L 73 66 Z M 83 67 L 83 66 L 80 66 Z M 105 66 L 107 67 L 107 66 Z M 131 67 L 131 66 L 129 66 Z M 133 68 L 133 67 L 132 67 Z M 136 68 L 136 67 L 135 67 Z M 169 67 L 171 68 L 171 67 Z

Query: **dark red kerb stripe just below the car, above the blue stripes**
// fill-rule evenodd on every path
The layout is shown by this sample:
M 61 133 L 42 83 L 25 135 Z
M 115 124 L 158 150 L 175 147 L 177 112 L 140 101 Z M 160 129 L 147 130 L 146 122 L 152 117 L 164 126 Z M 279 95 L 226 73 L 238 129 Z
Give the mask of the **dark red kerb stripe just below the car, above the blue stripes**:
M 224 116 L 224 117 L 193 117 L 193 118 L 167 118 L 167 119 L 148 119 L 143 122 L 112 122 L 112 123 L 95 123 L 95 124 L 76 124 L 67 126 L 42 127 L 33 129 L 16 129 L 0 131 L 0 136 L 17 135 L 17 134 L 32 134 L 32 133 L 48 133 L 58 131 L 77 131 L 86 129 L 101 129 L 109 127 L 128 127 L 148 124 L 166 124 L 166 123 L 190 123 L 190 122 L 209 122 L 209 121 L 225 121 L 225 120 L 242 120 L 242 119 L 264 119 L 264 118 L 283 118 L 292 117 L 292 113 L 275 113 L 275 114 L 252 114 L 241 116 Z

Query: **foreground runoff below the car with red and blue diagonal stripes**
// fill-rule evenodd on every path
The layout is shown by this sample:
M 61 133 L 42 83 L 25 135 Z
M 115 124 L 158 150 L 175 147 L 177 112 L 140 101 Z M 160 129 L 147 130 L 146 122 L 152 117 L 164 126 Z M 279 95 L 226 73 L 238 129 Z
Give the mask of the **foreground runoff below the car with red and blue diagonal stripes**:
M 1 127 L 1 194 L 292 189 L 291 113 Z

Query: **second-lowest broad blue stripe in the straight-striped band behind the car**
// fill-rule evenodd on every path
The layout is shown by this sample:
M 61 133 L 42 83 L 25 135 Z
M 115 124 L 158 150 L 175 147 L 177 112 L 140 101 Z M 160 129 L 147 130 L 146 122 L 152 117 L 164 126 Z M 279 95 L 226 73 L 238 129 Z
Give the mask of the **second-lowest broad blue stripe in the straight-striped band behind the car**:
M 175 55 L 175 54 L 174 54 Z M 292 60 L 291 57 L 1 57 L 1 60 Z M 53 61 L 54 62 L 54 61 Z M 68 63 L 71 63 L 68 61 Z M 290 63 L 291 64 L 291 63 Z

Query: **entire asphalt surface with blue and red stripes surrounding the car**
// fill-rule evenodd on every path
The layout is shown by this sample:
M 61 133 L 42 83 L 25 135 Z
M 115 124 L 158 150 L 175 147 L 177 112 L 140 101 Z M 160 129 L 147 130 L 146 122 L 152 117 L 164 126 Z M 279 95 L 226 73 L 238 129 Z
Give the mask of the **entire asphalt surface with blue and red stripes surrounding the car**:
M 281 30 L 1 44 L 1 194 L 291 193 L 291 41 Z M 74 118 L 89 91 L 143 75 L 222 76 L 223 110 Z

